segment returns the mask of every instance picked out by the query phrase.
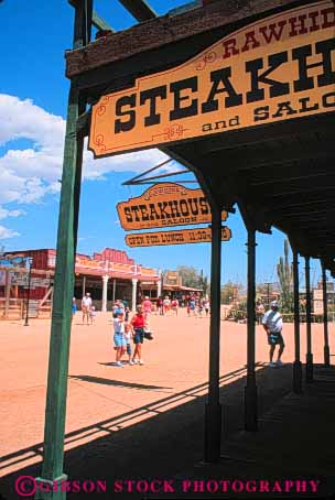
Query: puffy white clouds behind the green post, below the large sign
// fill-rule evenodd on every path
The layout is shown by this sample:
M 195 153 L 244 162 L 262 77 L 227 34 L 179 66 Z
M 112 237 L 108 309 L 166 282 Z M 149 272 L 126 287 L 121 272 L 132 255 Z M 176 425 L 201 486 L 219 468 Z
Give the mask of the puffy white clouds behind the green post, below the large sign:
M 0 94 L 0 144 L 28 139 L 33 145 L 10 149 L 0 156 L 0 203 L 39 202 L 60 191 L 65 120 L 52 115 L 31 99 Z M 104 180 L 108 172 L 143 172 L 168 156 L 159 150 L 94 160 L 85 145 L 84 178 Z M 166 170 L 170 165 L 166 165 Z

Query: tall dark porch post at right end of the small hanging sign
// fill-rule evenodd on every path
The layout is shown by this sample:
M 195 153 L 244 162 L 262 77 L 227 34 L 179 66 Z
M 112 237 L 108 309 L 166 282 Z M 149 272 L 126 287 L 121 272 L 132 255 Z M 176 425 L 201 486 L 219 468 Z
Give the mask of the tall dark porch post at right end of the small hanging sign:
M 220 351 L 220 278 L 221 278 L 221 210 L 212 206 L 209 389 L 205 413 L 205 453 L 207 463 L 220 458 L 221 405 L 219 402 Z

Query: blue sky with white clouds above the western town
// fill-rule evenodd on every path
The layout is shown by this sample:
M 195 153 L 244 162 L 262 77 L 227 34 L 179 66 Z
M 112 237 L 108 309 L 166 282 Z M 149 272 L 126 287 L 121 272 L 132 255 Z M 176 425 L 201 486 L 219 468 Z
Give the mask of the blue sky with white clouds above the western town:
M 184 0 L 151 0 L 160 14 Z M 117 0 L 95 0 L 95 10 L 116 30 L 136 21 Z M 4 0 L 0 3 L 2 74 L 0 80 L 0 247 L 6 250 L 55 248 L 63 139 L 68 93 L 64 52 L 72 47 L 74 11 L 66 0 Z M 158 164 L 156 150 L 94 161 L 85 152 L 78 251 L 105 247 L 127 250 L 143 265 L 175 269 L 188 264 L 209 272 L 206 243 L 128 249 L 116 204 L 145 187 L 122 182 Z M 223 243 L 223 282 L 246 282 L 246 230 L 239 214 L 226 222 L 233 231 Z M 284 236 L 258 235 L 257 280 L 277 281 L 275 264 Z M 301 275 L 303 274 L 303 259 Z M 312 281 L 320 276 L 312 262 Z

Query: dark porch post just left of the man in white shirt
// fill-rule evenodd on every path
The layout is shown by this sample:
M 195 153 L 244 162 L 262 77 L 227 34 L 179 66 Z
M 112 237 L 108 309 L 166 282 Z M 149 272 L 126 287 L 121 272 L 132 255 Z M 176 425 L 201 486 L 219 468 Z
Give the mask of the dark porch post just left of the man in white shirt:
M 257 431 L 257 385 L 255 372 L 256 306 L 256 230 L 248 228 L 248 298 L 247 298 L 247 385 L 245 388 L 245 427 Z

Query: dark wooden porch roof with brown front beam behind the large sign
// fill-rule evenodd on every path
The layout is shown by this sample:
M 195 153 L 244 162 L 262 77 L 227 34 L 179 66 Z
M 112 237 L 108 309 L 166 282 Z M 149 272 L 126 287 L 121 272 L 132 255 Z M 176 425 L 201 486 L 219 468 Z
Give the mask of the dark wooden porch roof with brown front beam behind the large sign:
M 313 1 L 217 0 L 150 19 L 67 52 L 66 75 L 89 102 L 181 64 L 229 32 Z M 153 2 L 154 4 L 154 2 Z M 88 123 L 86 122 L 86 133 Z M 84 127 L 84 129 L 85 129 Z M 163 150 L 193 170 L 223 208 L 238 203 L 260 231 L 284 231 L 335 275 L 334 112 L 206 135 Z

